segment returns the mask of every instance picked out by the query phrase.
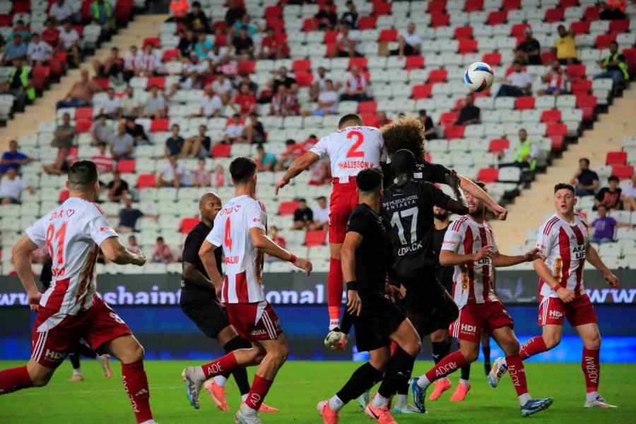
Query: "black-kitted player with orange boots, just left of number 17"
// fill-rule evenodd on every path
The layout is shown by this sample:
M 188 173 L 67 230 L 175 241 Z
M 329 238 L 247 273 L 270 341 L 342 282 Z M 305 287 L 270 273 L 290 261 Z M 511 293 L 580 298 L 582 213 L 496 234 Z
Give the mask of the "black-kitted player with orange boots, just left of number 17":
M 338 412 L 379 380 L 382 384 L 365 414 L 382 424 L 394 424 L 389 398 L 411 375 L 422 347 L 420 337 L 404 312 L 385 297 L 388 236 L 380 216 L 382 171 L 361 170 L 355 177 L 360 204 L 347 223 L 342 246 L 342 270 L 347 281 L 347 310 L 355 316 L 355 343 L 371 360 L 353 372 L 343 388 L 317 409 L 324 423 L 338 423 Z M 398 347 L 391 356 L 391 341 Z M 384 377 L 383 377 L 384 374 Z

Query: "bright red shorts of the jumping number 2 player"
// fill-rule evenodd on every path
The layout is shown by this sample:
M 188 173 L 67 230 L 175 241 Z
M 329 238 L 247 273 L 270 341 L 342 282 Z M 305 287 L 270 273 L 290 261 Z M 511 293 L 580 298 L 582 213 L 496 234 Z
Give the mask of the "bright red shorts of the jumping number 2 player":
M 338 182 L 334 179 L 334 189 L 329 200 L 329 242 L 340 244 L 344 242 L 347 232 L 347 221 L 358 202 L 358 184 L 355 177 L 349 182 Z

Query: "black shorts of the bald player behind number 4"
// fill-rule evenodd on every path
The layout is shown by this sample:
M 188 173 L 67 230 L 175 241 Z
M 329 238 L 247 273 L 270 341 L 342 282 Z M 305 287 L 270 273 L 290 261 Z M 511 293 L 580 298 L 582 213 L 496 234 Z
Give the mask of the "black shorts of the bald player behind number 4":
M 193 290 L 194 291 L 194 290 Z M 181 309 L 209 338 L 216 338 L 221 330 L 230 325 L 228 314 L 218 302 L 216 294 L 201 295 L 199 290 L 189 293 L 181 291 Z

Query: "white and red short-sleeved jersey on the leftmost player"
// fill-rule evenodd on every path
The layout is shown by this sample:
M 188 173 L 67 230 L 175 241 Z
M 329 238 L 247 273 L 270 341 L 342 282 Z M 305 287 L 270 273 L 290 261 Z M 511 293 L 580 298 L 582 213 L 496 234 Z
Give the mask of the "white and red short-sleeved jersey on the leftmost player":
M 40 300 L 48 318 L 37 328 L 47 331 L 67 315 L 93 306 L 100 245 L 117 237 L 117 232 L 97 204 L 77 197 L 67 199 L 25 231 L 37 247 L 46 245 L 53 259 L 51 285 Z

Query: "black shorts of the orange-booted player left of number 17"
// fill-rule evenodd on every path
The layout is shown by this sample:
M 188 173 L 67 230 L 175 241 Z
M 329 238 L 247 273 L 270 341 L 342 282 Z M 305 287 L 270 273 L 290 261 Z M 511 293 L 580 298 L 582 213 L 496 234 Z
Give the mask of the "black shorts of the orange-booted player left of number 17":
M 390 346 L 389 336 L 404 322 L 406 314 L 379 293 L 360 296 L 360 300 L 363 305 L 362 312 L 353 322 L 358 352 L 375 351 Z

